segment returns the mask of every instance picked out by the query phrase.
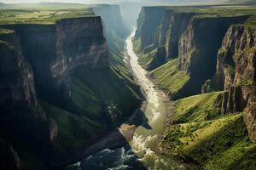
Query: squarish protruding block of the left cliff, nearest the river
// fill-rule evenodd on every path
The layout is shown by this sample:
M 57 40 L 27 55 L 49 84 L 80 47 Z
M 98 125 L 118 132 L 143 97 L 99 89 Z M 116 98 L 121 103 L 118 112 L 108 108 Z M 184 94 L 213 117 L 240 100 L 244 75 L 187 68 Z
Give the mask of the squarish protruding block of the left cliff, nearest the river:
M 56 23 L 56 56 L 51 65 L 53 77 L 78 65 L 108 65 L 106 40 L 100 17 L 63 19 Z

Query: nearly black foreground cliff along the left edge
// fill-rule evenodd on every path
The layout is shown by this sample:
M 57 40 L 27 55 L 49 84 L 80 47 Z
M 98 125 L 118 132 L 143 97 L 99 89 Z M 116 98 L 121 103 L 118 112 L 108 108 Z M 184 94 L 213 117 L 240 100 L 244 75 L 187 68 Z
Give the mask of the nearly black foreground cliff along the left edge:
M 36 150 L 38 155 L 49 155 L 49 148 L 53 148 L 57 135 L 55 121 L 45 115 L 38 103 L 34 75 L 22 54 L 17 34 L 1 34 L 0 39 L 1 138 L 15 141 L 19 149 L 29 146 L 28 150 Z M 24 138 L 27 133 L 30 135 Z M 11 151 L 9 154 L 19 161 L 16 152 L 7 149 L 2 148 Z M 16 167 L 20 167 L 18 164 L 16 162 Z

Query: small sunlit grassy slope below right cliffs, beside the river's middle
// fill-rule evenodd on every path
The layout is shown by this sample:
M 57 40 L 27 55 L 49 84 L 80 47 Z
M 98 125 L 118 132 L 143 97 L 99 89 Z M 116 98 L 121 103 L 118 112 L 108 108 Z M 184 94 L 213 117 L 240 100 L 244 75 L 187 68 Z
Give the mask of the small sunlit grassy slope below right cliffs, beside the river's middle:
M 177 91 L 189 81 L 189 75 L 184 71 L 178 71 L 177 59 L 172 59 L 165 65 L 150 72 L 153 82 L 167 94 L 176 94 Z

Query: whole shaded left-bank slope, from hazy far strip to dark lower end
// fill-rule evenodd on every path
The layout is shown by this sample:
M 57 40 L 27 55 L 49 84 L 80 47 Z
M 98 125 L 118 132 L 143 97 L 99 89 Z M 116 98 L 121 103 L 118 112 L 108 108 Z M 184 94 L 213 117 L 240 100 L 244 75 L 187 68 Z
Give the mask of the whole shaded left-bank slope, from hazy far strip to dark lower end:
M 42 101 L 47 116 L 53 118 L 60 132 L 60 150 L 75 150 L 91 144 L 106 129 L 119 126 L 141 105 L 142 95 L 125 64 L 125 42 L 106 31 L 110 65 L 90 68 L 79 65 L 71 72 L 71 100 L 67 111 Z M 65 142 L 62 142 L 65 140 Z

